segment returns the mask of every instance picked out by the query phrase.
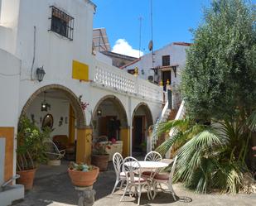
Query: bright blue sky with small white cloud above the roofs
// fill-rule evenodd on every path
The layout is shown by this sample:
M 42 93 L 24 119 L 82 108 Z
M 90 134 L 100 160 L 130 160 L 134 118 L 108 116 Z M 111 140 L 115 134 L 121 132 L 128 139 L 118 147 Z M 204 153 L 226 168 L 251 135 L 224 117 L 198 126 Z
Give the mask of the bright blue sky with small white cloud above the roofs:
M 202 21 L 203 8 L 210 6 L 210 0 L 152 0 L 151 32 L 151 0 L 93 2 L 97 6 L 94 28 L 106 28 L 112 51 L 136 57 L 149 52 L 152 36 L 154 50 L 174 41 L 192 42 L 191 29 L 196 29 Z

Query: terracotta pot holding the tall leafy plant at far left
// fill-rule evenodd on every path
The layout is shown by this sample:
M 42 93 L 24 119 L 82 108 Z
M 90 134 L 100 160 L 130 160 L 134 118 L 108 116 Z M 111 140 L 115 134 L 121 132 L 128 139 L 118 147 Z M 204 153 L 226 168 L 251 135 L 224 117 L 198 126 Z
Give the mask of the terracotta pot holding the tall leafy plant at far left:
M 36 169 L 17 171 L 17 174 L 21 175 L 21 177 L 17 179 L 17 184 L 23 184 L 25 189 L 32 189 L 35 173 Z

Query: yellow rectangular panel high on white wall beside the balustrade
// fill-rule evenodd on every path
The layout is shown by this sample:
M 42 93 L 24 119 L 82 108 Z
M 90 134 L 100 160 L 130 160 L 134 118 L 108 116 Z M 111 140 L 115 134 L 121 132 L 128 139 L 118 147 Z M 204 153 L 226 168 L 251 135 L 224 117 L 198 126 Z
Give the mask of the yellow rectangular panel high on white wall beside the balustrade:
M 73 60 L 72 78 L 89 81 L 89 65 Z

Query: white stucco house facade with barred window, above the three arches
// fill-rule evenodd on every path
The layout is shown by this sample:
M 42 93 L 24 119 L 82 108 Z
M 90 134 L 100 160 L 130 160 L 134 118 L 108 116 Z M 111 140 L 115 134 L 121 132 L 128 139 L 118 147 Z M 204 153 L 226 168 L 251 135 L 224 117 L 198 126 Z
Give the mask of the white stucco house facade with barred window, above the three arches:
M 73 41 L 61 37 L 55 32 L 48 31 L 51 24 L 49 17 L 51 17 L 50 6 L 52 5 L 75 18 Z M 99 60 L 91 54 L 93 16 L 94 5 L 84 0 L 2 0 L 0 48 L 9 51 L 17 58 L 1 51 L 0 71 L 1 73 L 17 75 L 4 77 L 0 75 L 0 94 L 5 97 L 1 100 L 1 106 L 3 105 L 3 107 L 0 107 L 0 126 L 17 127 L 17 118 L 27 100 L 37 89 L 50 84 L 65 86 L 75 93 L 76 97 L 83 95 L 82 101 L 89 103 L 89 107 L 85 110 L 87 125 L 90 124 L 91 111 L 94 110 L 99 100 L 107 95 L 116 96 L 123 104 L 128 117 L 128 126 L 132 125 L 131 118 L 134 108 L 142 102 L 147 103 L 152 111 L 153 120 L 156 121 L 162 110 L 160 100 L 148 100 L 147 98 L 138 97 L 139 95 L 134 93 L 122 93 L 117 89 L 109 89 L 104 86 L 96 87 L 89 82 L 72 79 L 73 60 L 89 65 L 90 80 L 94 79 L 94 70 L 99 65 Z M 35 44 L 34 36 L 36 36 Z M 35 63 L 32 65 L 34 48 L 36 55 Z M 21 62 L 17 59 L 20 59 Z M 109 65 L 110 62 L 104 59 L 104 63 Z M 46 75 L 41 82 L 38 82 L 35 73 L 36 68 L 41 66 L 46 71 Z M 106 65 L 103 65 L 103 67 L 105 68 Z M 116 68 L 111 67 L 110 69 Z M 21 76 L 19 75 L 20 72 Z M 117 74 L 122 76 L 122 70 L 118 69 Z M 123 71 L 123 74 L 126 74 L 125 71 Z M 138 89 L 138 81 L 135 82 L 136 89 Z M 7 89 L 8 93 L 6 93 Z M 36 101 L 34 103 L 40 105 Z M 52 103 L 51 106 L 53 107 L 54 104 Z M 32 108 L 32 105 L 29 113 L 35 113 L 36 121 L 38 121 L 38 117 L 41 117 L 41 115 L 36 113 L 38 108 Z M 53 110 L 52 108 L 51 112 Z M 57 113 L 61 113 L 61 111 Z M 65 118 L 66 115 L 63 114 L 63 117 Z M 58 123 L 60 117 L 54 118 L 55 122 Z M 54 132 L 60 134 L 59 132 L 66 131 Z

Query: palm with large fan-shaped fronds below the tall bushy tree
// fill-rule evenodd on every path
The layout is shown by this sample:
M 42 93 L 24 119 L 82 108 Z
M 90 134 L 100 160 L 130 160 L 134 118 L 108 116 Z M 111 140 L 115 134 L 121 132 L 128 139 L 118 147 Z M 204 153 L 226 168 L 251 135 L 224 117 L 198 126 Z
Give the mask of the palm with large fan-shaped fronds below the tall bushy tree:
M 255 117 L 253 113 L 246 123 L 237 117 L 233 121 L 215 121 L 210 126 L 188 118 L 163 123 L 158 134 L 172 129 L 173 136 L 157 151 L 164 155 L 171 146 L 179 147 L 174 180 L 182 181 L 186 187 L 200 193 L 211 189 L 237 193 L 243 186 L 244 172 L 248 171 L 248 128 L 255 128 Z

